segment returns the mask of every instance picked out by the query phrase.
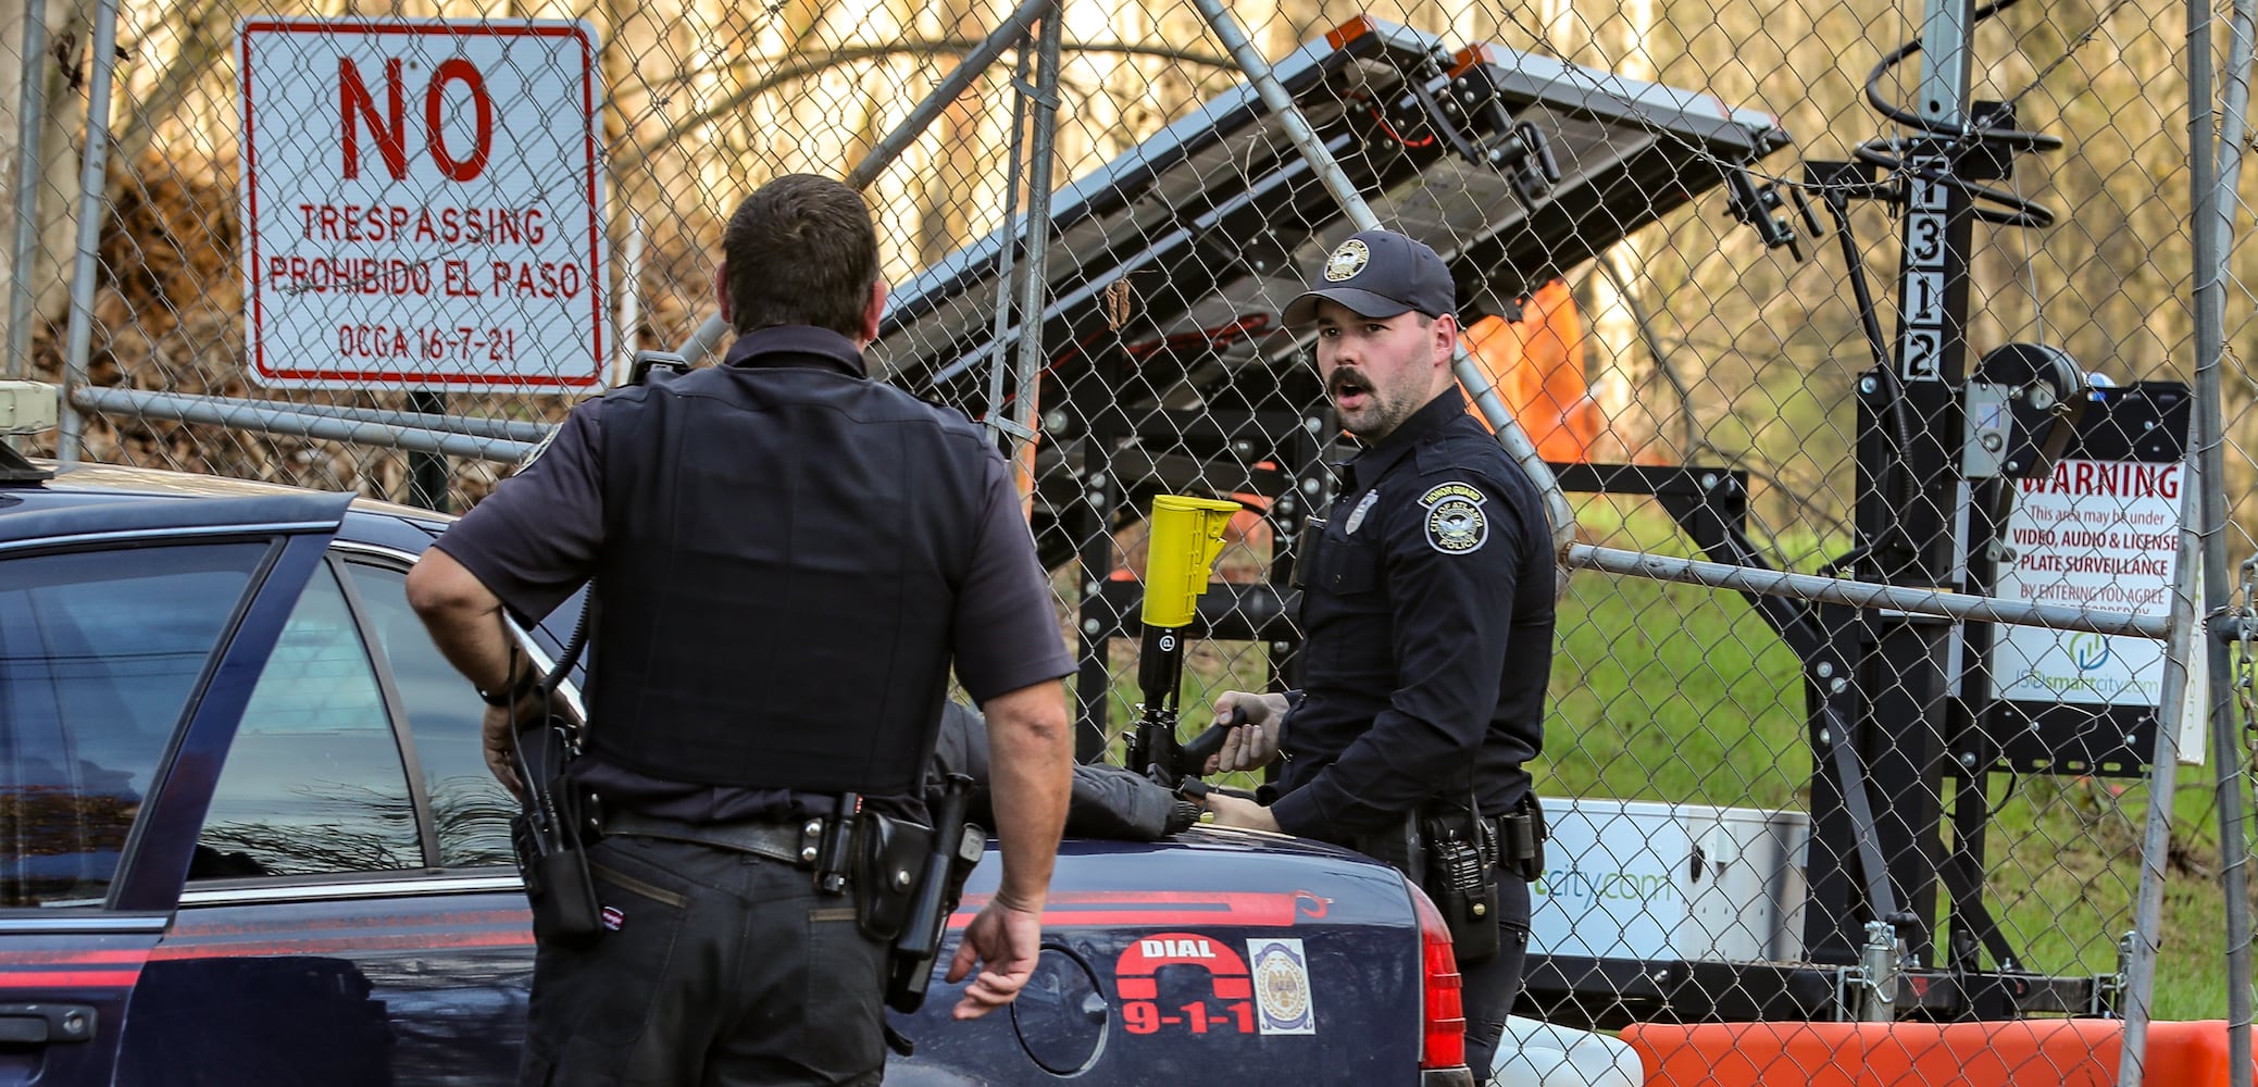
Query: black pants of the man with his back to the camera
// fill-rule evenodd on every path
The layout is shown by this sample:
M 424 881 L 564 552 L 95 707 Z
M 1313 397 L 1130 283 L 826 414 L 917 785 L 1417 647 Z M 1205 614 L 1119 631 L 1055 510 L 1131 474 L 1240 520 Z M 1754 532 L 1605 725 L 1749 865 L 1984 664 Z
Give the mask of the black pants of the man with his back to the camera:
M 711 845 L 589 850 L 616 929 L 540 947 L 524 1087 L 876 1085 L 885 945 L 808 872 Z

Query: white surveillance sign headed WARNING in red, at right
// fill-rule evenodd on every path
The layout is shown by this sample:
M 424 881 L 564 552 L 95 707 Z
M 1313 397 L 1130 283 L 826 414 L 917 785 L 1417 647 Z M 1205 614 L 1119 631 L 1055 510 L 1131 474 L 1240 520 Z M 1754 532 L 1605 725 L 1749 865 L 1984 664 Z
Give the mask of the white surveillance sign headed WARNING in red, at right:
M 2172 610 L 2186 468 L 2059 461 L 2016 484 L 1998 599 L 2104 612 Z M 1996 696 L 2019 703 L 2150 705 L 2163 698 L 2163 642 L 2037 626 L 2001 628 Z

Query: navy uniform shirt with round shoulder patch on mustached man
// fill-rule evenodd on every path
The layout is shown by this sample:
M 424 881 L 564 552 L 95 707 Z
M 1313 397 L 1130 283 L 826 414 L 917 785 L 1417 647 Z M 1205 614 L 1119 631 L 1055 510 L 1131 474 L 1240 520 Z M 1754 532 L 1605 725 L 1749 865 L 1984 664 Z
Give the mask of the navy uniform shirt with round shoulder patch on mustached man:
M 1517 805 L 1542 748 L 1551 529 L 1456 386 L 1344 466 L 1303 563 L 1278 827 L 1348 843 L 1438 793 Z

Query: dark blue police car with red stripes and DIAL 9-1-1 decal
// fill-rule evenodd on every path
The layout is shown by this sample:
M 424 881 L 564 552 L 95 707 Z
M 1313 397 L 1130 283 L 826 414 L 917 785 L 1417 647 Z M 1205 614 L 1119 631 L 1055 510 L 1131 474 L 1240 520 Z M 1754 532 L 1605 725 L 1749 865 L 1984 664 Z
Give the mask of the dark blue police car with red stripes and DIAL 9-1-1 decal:
M 404 597 L 440 531 L 0 447 L 0 1087 L 513 1082 L 513 800 Z M 1472 1082 L 1447 940 L 1325 845 L 1068 841 L 1030 988 L 955 1024 L 935 981 L 887 1082 Z

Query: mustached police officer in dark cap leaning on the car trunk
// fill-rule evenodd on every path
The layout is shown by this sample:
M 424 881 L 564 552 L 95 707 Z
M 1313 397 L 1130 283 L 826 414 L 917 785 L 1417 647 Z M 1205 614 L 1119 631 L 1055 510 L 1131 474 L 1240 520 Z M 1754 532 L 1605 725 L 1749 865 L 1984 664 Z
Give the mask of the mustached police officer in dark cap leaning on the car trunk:
M 1425 244 L 1364 231 L 1325 260 L 1285 321 L 1316 328 L 1316 368 L 1362 452 L 1305 549 L 1301 689 L 1231 692 L 1215 766 L 1283 757 L 1262 798 L 1210 793 L 1224 825 L 1366 847 L 1427 805 L 1481 816 L 1531 798 L 1551 671 L 1551 529 L 1529 475 L 1468 416 L 1452 377 L 1450 269 Z M 1319 527 L 1312 524 L 1312 536 Z M 1526 814 L 1520 827 L 1529 827 Z M 1398 838 L 1400 841 L 1400 838 Z M 1461 965 L 1468 1064 L 1488 1076 L 1522 983 L 1529 884 L 1506 856 L 1502 951 Z

